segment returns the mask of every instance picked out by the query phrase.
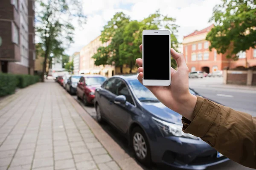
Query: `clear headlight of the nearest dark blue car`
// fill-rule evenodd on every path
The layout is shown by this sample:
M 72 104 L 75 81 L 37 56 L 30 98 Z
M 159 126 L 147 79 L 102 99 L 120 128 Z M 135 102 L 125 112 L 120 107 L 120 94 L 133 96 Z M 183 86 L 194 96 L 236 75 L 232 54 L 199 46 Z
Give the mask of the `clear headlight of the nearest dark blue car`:
M 199 140 L 198 137 L 192 134 L 184 133 L 182 131 L 182 125 L 165 122 L 163 120 L 159 120 L 154 117 L 152 117 L 152 119 L 157 124 L 157 127 L 160 129 L 163 136 L 177 136 L 177 137 L 184 137 L 184 138 Z

